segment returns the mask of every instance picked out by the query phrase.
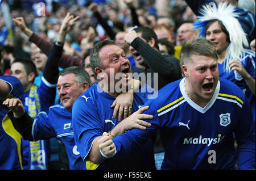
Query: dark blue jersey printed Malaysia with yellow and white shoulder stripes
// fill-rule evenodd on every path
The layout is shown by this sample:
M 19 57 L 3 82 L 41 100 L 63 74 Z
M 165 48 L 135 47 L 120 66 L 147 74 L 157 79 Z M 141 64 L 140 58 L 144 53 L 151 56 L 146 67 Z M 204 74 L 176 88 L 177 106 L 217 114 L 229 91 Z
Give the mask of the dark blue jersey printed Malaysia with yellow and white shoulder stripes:
M 151 127 L 113 139 L 114 157 L 123 158 L 159 128 L 166 151 L 161 169 L 234 169 L 237 158 L 238 168 L 255 169 L 255 124 L 242 90 L 220 78 L 212 99 L 202 108 L 185 93 L 184 79 L 163 87 L 157 99 L 145 104 L 150 108 L 144 113 L 154 115 L 148 120 Z

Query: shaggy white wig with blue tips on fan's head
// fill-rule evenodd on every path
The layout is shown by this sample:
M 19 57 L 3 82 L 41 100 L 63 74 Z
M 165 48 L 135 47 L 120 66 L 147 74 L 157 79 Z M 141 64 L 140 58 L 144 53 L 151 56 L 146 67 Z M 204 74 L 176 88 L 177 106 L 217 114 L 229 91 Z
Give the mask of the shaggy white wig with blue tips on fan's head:
M 226 2 L 220 3 L 218 7 L 214 3 L 204 5 L 200 10 L 202 16 L 198 16 L 197 21 L 193 24 L 195 28 L 199 28 L 200 36 L 205 37 L 205 26 L 210 20 L 220 20 L 229 32 L 229 46 L 226 49 L 224 67 L 225 71 L 230 71 L 229 62 L 231 60 L 243 61 L 245 59 L 245 53 L 247 56 L 255 57 L 255 53 L 244 47 L 249 47 L 249 43 L 246 39 L 246 33 L 243 31 L 240 23 L 236 19 L 240 16 L 236 10 L 236 6 L 227 4 Z

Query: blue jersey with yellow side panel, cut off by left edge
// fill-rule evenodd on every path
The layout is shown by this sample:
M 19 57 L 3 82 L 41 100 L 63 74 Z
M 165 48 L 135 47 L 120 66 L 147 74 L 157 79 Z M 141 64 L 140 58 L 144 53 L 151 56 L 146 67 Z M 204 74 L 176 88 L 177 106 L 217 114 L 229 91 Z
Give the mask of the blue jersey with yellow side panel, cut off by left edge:
M 11 91 L 7 98 L 23 98 L 23 85 L 13 76 L 4 75 L 0 79 L 9 83 Z M 23 169 L 21 135 L 14 129 L 13 123 L 7 112 L 9 109 L 3 106 L 6 98 L 0 98 L 0 170 Z

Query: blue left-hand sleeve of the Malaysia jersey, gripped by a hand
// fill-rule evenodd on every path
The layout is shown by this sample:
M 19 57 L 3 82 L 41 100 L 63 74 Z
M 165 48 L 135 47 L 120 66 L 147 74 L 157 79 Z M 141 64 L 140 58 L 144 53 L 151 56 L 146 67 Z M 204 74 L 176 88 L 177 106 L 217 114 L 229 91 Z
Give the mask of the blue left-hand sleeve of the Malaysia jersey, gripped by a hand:
M 149 101 L 151 102 L 152 100 Z M 152 137 L 152 139 L 154 139 L 156 129 L 159 126 L 159 117 L 154 109 L 154 103 L 146 103 L 145 106 L 146 105 L 149 105 L 150 108 L 147 111 L 144 111 L 144 113 L 153 115 L 154 118 L 152 120 L 144 121 L 151 123 L 151 127 L 147 127 L 146 130 L 134 128 L 113 138 L 115 149 L 117 150 L 117 154 L 113 157 L 114 159 L 122 159 L 131 155 L 138 146 L 144 145 L 148 138 Z

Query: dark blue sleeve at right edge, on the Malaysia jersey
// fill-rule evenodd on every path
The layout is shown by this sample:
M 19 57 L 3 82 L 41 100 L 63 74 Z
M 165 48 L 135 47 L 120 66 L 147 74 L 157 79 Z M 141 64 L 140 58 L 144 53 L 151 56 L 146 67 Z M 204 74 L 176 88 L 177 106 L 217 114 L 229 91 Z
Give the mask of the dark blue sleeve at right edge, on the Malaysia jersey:
M 250 105 L 245 98 L 242 116 L 234 131 L 237 140 L 238 169 L 255 169 L 255 123 L 250 111 Z

